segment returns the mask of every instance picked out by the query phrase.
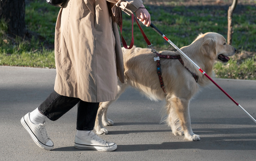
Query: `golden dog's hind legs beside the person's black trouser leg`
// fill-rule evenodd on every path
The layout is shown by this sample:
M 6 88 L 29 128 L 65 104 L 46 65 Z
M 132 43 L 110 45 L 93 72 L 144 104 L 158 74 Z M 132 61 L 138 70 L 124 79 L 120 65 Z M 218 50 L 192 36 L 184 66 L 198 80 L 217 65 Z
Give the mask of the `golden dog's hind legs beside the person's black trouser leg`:
M 119 98 L 119 96 L 125 91 L 127 83 L 122 84 L 118 79 L 118 93 L 114 100 L 101 102 L 96 116 L 94 129 L 97 134 L 107 134 L 108 131 L 103 125 L 113 125 L 113 121 L 107 118 L 107 108 Z

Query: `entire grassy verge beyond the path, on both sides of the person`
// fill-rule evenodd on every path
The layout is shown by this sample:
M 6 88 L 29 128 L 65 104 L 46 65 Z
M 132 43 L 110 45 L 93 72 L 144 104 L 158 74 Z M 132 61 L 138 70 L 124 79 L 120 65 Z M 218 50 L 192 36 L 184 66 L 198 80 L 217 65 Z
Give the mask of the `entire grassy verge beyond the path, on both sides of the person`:
M 226 37 L 228 6 L 146 6 L 152 22 L 164 32 L 178 47 L 189 45 L 199 33 L 216 32 Z M 54 32 L 59 8 L 40 0 L 26 4 L 26 27 L 44 37 L 43 41 L 32 38 L 11 38 L 6 33 L 7 26 L 0 21 L 0 65 L 55 68 L 53 49 L 45 49 L 45 44 L 54 44 Z M 129 44 L 131 20 L 124 14 L 124 37 Z M 256 7 L 238 5 L 233 14 L 233 46 L 238 54 L 228 63 L 216 63 L 217 78 L 256 80 Z M 147 47 L 134 24 L 134 39 L 137 47 Z M 173 50 L 151 28 L 143 27 L 145 33 L 160 50 Z

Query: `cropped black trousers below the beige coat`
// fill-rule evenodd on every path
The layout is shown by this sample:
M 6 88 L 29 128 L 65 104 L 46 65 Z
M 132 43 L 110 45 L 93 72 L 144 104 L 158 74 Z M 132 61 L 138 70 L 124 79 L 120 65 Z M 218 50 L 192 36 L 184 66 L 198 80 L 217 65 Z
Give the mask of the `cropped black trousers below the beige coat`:
M 78 104 L 76 121 L 77 130 L 93 130 L 99 102 L 85 102 L 79 98 L 61 96 L 53 91 L 38 107 L 41 114 L 55 121 Z

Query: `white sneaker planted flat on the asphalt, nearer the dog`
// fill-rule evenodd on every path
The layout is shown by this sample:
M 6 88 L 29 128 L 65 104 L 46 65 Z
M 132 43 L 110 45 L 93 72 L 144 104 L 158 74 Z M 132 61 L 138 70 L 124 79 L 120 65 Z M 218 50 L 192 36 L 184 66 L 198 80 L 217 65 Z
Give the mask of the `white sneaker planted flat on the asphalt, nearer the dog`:
M 89 137 L 80 139 L 76 136 L 75 148 L 78 149 L 94 149 L 99 151 L 113 151 L 116 150 L 116 143 L 107 142 L 101 139 L 94 132 L 90 132 Z

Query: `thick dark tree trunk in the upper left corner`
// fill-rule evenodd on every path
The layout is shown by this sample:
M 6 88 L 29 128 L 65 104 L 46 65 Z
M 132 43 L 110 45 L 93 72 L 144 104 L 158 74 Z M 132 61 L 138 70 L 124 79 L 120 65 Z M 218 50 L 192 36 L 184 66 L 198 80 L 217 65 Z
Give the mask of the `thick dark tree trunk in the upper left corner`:
M 8 25 L 8 33 L 24 36 L 25 0 L 0 0 L 0 18 Z

